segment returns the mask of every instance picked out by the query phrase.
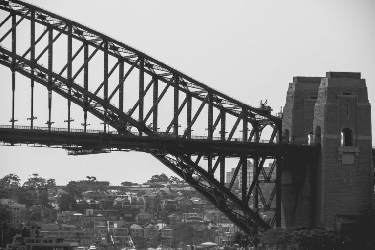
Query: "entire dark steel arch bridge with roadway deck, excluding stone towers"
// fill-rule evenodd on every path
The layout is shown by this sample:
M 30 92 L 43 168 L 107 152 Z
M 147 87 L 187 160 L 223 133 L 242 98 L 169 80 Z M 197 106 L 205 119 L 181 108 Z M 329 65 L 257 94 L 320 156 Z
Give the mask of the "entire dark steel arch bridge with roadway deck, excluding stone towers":
M 60 146 L 74 155 L 110 150 L 150 153 L 247 234 L 281 225 L 281 164 L 296 155 L 298 159 L 312 157 L 318 150 L 313 146 L 283 144 L 282 119 L 272 115 L 269 107 L 255 108 L 242 103 L 123 42 L 29 3 L 0 0 L 0 13 L 0 43 L 4 44 L 0 46 L 0 64 L 12 72 L 11 125 L 1 126 L 1 142 Z M 21 25 L 28 27 L 27 42 L 16 35 Z M 38 30 L 41 32 L 36 36 Z M 58 46 L 60 41 L 63 48 Z M 28 49 L 17 51 L 19 42 L 28 43 Z M 42 43 L 45 45 L 41 46 Z M 57 49 L 64 50 L 64 58 L 56 55 Z M 56 57 L 64 61 L 62 67 L 56 66 Z M 100 80 L 89 78 L 90 65 L 95 60 L 100 61 L 103 72 Z M 28 127 L 15 124 L 16 72 L 30 79 Z M 128 82 L 134 79 L 138 98 L 125 105 Z M 46 87 L 48 92 L 47 127 L 33 124 L 34 83 Z M 103 96 L 99 96 L 100 92 Z M 52 126 L 52 93 L 67 100 L 67 117 L 58 114 L 66 119 L 64 129 Z M 161 108 L 162 102 L 170 108 Z M 82 130 L 70 126 L 71 103 L 83 110 Z M 103 123 L 103 131 L 87 129 L 88 114 Z M 193 128 L 199 126 L 196 121 L 202 117 L 207 122 L 207 134 L 194 136 Z M 229 120 L 234 121 L 230 126 Z M 158 126 L 166 121 L 167 128 L 161 130 Z M 271 133 L 262 139 L 267 127 Z M 234 138 L 238 129 L 242 137 Z M 215 137 L 214 133 L 220 136 Z M 226 158 L 238 160 L 232 179 L 227 180 L 229 185 L 225 185 L 224 178 Z M 250 187 L 246 185 L 249 158 L 254 165 Z M 207 166 L 202 167 L 202 159 L 207 160 Z M 270 167 L 265 166 L 266 159 L 273 159 Z M 220 173 L 219 179 L 214 176 L 216 171 Z M 235 194 L 233 186 L 238 178 L 245 185 Z M 271 185 L 272 191 L 264 194 L 262 188 L 267 185 Z M 271 217 L 264 220 L 260 212 Z

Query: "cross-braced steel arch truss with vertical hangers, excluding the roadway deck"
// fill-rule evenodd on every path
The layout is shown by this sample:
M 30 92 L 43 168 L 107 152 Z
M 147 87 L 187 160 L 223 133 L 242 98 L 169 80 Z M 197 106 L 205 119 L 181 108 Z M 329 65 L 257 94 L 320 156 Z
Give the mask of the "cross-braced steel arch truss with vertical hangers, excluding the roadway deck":
M 5 46 L 0 47 L 0 63 L 11 69 L 12 72 L 12 117 L 10 119 L 12 128 L 15 128 L 15 86 L 16 72 L 26 76 L 31 81 L 31 103 L 30 103 L 30 128 L 33 129 L 34 83 L 39 83 L 48 91 L 48 130 L 52 133 L 51 121 L 52 93 L 57 93 L 67 100 L 67 132 L 70 131 L 70 123 L 73 121 L 70 115 L 71 103 L 83 109 L 83 128 L 86 131 L 87 113 L 99 118 L 104 124 L 104 133 L 107 132 L 107 125 L 115 128 L 119 135 L 133 136 L 131 127 L 138 130 L 138 135 L 152 138 L 162 138 L 164 136 L 178 137 L 179 140 L 189 140 L 192 138 L 192 128 L 199 116 L 208 116 L 207 136 L 204 140 L 211 142 L 210 146 L 215 147 L 214 132 L 217 127 L 220 131 L 220 141 L 231 142 L 233 135 L 242 124 L 240 139 L 243 143 L 254 144 L 261 140 L 262 131 L 266 126 L 271 127 L 272 133 L 268 138 L 269 143 L 281 143 L 281 119 L 270 114 L 269 110 L 254 108 L 244 104 L 209 87 L 186 74 L 162 63 L 158 60 L 138 51 L 125 43 L 119 42 L 96 30 L 85 27 L 75 21 L 68 20 L 40 7 L 19 1 L 0 0 L 1 13 L 8 13 L 0 23 L 0 31 L 3 36 L 0 43 L 10 40 L 10 49 Z M 10 28 L 4 30 L 5 23 L 10 22 Z M 16 51 L 16 29 L 20 23 L 29 23 L 30 46 L 20 53 Z M 44 31 L 36 36 L 36 25 L 42 25 Z M 41 41 L 47 41 L 46 46 L 36 53 L 36 46 Z M 57 69 L 53 64 L 53 57 L 56 54 L 54 44 L 56 41 L 67 41 L 66 64 Z M 81 45 L 78 49 L 73 49 L 73 42 Z M 101 65 L 103 79 L 88 78 L 90 61 L 94 56 L 103 55 Z M 47 55 L 47 66 L 42 65 L 41 58 Z M 83 59 L 78 62 L 77 58 Z M 109 59 L 115 60 L 114 65 L 109 65 Z M 65 59 L 64 59 L 65 60 Z M 74 71 L 73 61 L 80 63 Z M 128 65 L 126 68 L 125 66 Z M 56 71 L 57 70 L 57 71 Z M 109 78 L 118 71 L 118 80 L 112 90 L 109 90 Z M 124 92 L 126 91 L 126 79 L 133 71 L 138 71 L 138 100 L 128 111 L 124 111 Z M 150 76 L 150 81 L 145 82 L 145 76 Z M 83 76 L 83 83 L 78 83 L 78 77 Z M 146 83 L 146 84 L 145 84 Z M 159 91 L 163 84 L 162 91 Z M 90 91 L 94 87 L 95 91 Z M 158 105 L 165 97 L 168 89 L 173 91 L 173 112 L 167 113 L 161 110 Z M 103 91 L 103 96 L 99 92 Z M 152 105 L 145 108 L 146 93 L 152 91 Z M 116 100 L 114 97 L 117 97 Z M 192 112 L 192 102 L 198 102 L 195 113 Z M 208 114 L 203 114 L 204 108 L 208 109 Z M 214 119 L 214 109 L 218 111 Z M 186 113 L 186 125 L 180 129 L 182 111 Z M 137 114 L 135 117 L 135 114 Z M 161 114 L 162 113 L 162 114 Z M 158 128 L 160 117 L 169 117 L 169 125 L 164 131 Z M 235 123 L 230 127 L 229 134 L 226 119 L 234 117 Z M 158 120 L 159 118 L 159 120 Z M 151 122 L 151 123 L 150 123 Z M 149 125 L 146 125 L 150 123 Z M 183 131 L 181 131 L 184 129 Z M 229 145 L 228 148 L 231 146 Z M 194 151 L 194 146 L 189 150 L 168 150 L 168 147 L 154 146 L 154 148 L 132 146 L 131 149 L 144 151 L 152 154 L 156 159 L 173 170 L 178 176 L 187 181 L 192 187 L 203 194 L 218 209 L 224 212 L 239 228 L 248 234 L 253 234 L 257 230 L 265 230 L 281 225 L 281 157 L 282 154 L 267 154 L 256 150 L 238 151 L 225 153 L 225 151 L 211 152 Z M 196 157 L 195 159 L 192 156 Z M 227 157 L 238 158 L 238 164 L 234 175 L 225 185 L 225 160 Z M 201 159 L 207 159 L 207 168 L 200 166 Z M 247 175 L 249 172 L 248 158 L 253 159 L 254 179 L 250 187 L 247 187 Z M 270 170 L 264 168 L 267 158 L 274 160 Z M 216 171 L 220 172 L 217 180 L 214 177 Z M 240 170 L 241 183 L 243 184 L 240 193 L 235 195 L 232 192 L 233 186 Z M 274 174 L 276 172 L 276 175 Z M 273 185 L 271 194 L 267 197 L 262 193 L 262 185 Z M 252 198 L 252 208 L 250 199 Z M 258 207 L 259 204 L 263 206 Z M 259 212 L 271 212 L 273 216 L 269 221 L 263 220 Z

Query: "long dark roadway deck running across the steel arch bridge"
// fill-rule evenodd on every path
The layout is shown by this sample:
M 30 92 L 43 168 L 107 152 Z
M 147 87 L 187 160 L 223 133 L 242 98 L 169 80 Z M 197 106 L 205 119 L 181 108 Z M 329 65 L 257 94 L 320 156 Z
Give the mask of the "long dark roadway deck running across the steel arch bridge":
M 86 130 L 65 128 L 0 125 L 0 141 L 10 145 L 26 144 L 24 146 L 47 145 L 65 146 L 69 148 L 108 148 L 113 150 L 135 150 L 147 152 L 151 149 L 165 150 L 169 154 L 225 154 L 227 157 L 292 157 L 292 155 L 317 155 L 317 146 L 303 144 L 279 144 L 261 140 L 260 142 L 242 141 L 242 138 L 220 140 L 214 137 L 208 140 L 206 136 L 191 136 L 182 138 L 172 133 L 160 132 L 155 136 L 140 136 L 138 133 L 119 135 L 115 131 L 104 133 L 101 130 Z

